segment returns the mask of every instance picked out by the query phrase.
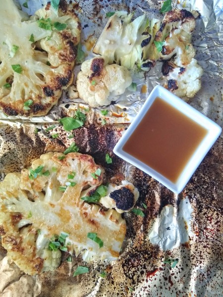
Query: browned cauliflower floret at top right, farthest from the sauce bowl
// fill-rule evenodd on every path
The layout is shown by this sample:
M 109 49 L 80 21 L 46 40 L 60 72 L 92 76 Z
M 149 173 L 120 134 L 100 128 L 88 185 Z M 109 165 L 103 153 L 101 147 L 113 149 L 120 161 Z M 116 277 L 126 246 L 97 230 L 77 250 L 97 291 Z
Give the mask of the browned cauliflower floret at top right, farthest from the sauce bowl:
M 185 9 L 168 11 L 154 40 L 162 49 L 160 59 L 170 59 L 175 55 L 174 63 L 178 67 L 190 64 L 195 55 L 191 44 L 194 28 L 195 18 L 191 12 Z

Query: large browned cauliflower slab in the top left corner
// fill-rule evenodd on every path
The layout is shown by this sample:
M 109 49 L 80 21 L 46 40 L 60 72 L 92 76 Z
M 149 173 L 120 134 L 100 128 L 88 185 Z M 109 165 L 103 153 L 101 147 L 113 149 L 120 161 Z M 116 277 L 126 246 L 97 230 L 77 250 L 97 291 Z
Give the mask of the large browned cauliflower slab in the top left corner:
M 50 2 L 24 20 L 13 0 L 0 9 L 0 108 L 7 115 L 45 115 L 72 83 L 80 22 Z

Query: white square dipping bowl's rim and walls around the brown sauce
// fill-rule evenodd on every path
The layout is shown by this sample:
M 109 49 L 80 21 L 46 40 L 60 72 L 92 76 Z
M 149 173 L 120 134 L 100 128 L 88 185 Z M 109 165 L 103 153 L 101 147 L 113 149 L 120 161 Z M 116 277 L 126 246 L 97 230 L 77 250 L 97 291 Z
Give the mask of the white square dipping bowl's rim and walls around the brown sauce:
M 165 176 L 160 174 L 158 171 L 154 170 L 144 162 L 140 161 L 136 157 L 132 156 L 131 154 L 125 152 L 123 150 L 123 146 L 132 135 L 134 130 L 139 125 L 140 121 L 143 119 L 149 108 L 151 107 L 154 100 L 159 97 L 170 104 L 175 109 L 182 112 L 191 120 L 195 121 L 202 127 L 207 130 L 206 136 L 200 142 L 198 147 L 195 149 L 194 153 L 190 157 L 189 161 L 186 163 L 184 169 L 181 171 L 177 181 L 175 183 L 168 180 Z M 213 146 L 217 138 L 220 136 L 222 132 L 222 128 L 217 125 L 215 122 L 210 120 L 208 117 L 197 111 L 195 108 L 191 107 L 188 103 L 184 102 L 182 99 L 179 99 L 167 89 L 156 86 L 153 91 L 150 93 L 149 97 L 146 99 L 145 103 L 143 104 L 142 108 L 140 109 L 139 113 L 133 120 L 133 122 L 128 127 L 127 131 L 124 132 L 121 139 L 118 141 L 116 146 L 113 149 L 113 152 L 124 159 L 125 161 L 131 163 L 132 165 L 138 167 L 139 169 L 143 170 L 145 173 L 149 174 L 164 186 L 166 186 L 169 190 L 175 193 L 180 193 L 183 188 L 186 186 L 187 182 L 209 151 L 209 149 Z M 144 136 L 146 137 L 146 136 Z M 151 144 L 152 145 L 152 144 Z M 146 148 L 145 148 L 146 149 Z

